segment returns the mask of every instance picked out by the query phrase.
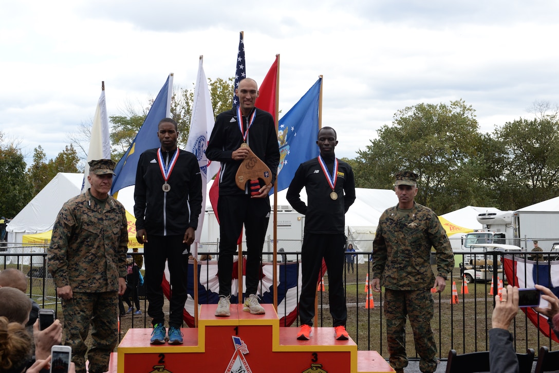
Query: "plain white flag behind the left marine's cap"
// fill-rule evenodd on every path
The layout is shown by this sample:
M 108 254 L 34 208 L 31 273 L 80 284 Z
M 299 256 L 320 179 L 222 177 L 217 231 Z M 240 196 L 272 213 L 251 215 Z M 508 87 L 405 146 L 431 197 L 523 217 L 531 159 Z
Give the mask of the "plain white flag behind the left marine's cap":
M 97 102 L 93 125 L 91 126 L 91 138 L 89 139 L 89 151 L 87 162 L 93 159 L 111 159 L 111 140 L 108 131 L 107 103 L 105 102 L 105 90 L 101 91 L 101 97 Z M 89 164 L 83 173 L 82 193 L 90 187 L 87 176 L 89 175 Z

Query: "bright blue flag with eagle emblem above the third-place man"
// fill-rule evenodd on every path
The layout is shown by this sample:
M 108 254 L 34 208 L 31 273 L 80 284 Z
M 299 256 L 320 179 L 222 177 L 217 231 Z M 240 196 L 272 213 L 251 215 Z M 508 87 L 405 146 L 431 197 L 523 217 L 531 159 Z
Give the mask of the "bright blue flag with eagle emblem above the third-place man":
M 320 154 L 318 138 L 318 110 L 322 78 L 301 97 L 290 111 L 280 119 L 278 143 L 278 192 L 287 189 L 299 165 Z M 271 192 L 272 193 L 272 192 Z

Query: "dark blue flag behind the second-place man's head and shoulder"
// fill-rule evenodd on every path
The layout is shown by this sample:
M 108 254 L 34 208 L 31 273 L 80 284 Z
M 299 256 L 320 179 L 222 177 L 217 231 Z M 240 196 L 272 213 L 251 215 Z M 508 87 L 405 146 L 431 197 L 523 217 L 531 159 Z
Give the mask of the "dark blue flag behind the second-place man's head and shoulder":
M 167 82 L 159 91 L 155 101 L 145 117 L 144 124 L 141 125 L 134 142 L 126 153 L 122 156 L 115 167 L 116 176 L 112 178 L 111 195 L 122 188 L 135 185 L 136 168 L 140 154 L 145 150 L 159 148 L 160 143 L 157 137 L 157 125 L 159 121 L 170 115 L 170 101 L 173 93 L 173 74 L 169 74 Z

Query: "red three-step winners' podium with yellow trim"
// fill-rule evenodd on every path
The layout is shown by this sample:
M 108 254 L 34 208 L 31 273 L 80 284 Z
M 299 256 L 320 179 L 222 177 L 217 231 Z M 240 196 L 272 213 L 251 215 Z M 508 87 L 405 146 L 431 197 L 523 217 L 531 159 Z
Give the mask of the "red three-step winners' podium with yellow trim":
M 129 329 L 111 373 L 203 371 L 216 373 L 372 373 L 394 372 L 376 351 L 357 351 L 352 339 L 337 341 L 333 328 L 313 328 L 309 341 L 297 340 L 299 328 L 280 328 L 271 304 L 264 315 L 231 305 L 231 316 L 215 317 L 216 305 L 201 305 L 198 328 L 183 328 L 182 345 L 149 344 L 151 329 Z M 116 366 L 116 370 L 114 370 Z

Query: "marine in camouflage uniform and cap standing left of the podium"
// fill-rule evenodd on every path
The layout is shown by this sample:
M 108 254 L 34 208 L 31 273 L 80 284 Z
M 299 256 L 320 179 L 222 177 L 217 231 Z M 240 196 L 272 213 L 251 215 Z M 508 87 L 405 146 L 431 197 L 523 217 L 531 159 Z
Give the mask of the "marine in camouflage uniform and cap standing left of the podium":
M 108 195 L 115 163 L 89 162 L 91 188 L 67 201 L 60 210 L 48 249 L 64 314 L 64 344 L 72 347 L 78 373 L 108 370 L 118 341 L 118 295 L 126 283 L 127 221 L 124 206 Z M 92 346 L 85 340 L 92 325 Z

